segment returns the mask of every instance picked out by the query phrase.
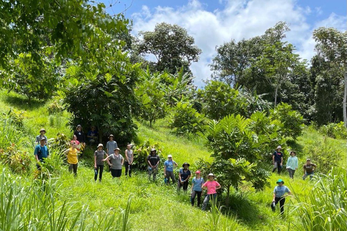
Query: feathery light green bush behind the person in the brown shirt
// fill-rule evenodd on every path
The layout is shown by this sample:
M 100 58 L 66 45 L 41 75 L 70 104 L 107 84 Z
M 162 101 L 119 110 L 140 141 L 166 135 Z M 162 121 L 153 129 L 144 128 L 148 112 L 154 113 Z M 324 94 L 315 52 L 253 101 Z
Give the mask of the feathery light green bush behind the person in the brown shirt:
M 311 162 L 317 165 L 316 172 L 327 174 L 331 167 L 337 167 L 340 160 L 340 149 L 335 144 L 314 141 L 311 144 L 306 144 L 303 150 L 306 158 L 311 159 Z

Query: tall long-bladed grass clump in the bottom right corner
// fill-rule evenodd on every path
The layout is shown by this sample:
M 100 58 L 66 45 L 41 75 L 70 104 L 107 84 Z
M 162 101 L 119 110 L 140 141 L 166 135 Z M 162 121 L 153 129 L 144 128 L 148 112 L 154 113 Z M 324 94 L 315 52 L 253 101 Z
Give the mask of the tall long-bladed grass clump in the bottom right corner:
M 302 221 L 300 229 L 347 230 L 346 169 L 332 168 L 328 175 L 318 175 L 315 180 L 308 198 L 296 196 L 299 203 L 294 206 L 294 210 Z

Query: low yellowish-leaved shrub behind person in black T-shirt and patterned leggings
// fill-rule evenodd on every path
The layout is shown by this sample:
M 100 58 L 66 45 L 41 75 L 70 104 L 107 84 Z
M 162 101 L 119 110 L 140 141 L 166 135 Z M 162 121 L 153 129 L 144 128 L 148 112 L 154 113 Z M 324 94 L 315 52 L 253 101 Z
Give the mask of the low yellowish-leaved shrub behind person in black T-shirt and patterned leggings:
M 140 170 L 145 170 L 147 168 L 147 157 L 151 153 L 152 148 L 155 148 L 156 154 L 158 154 L 161 160 L 164 160 L 159 143 L 151 144 L 151 142 L 147 140 L 142 145 L 136 145 L 133 165 Z

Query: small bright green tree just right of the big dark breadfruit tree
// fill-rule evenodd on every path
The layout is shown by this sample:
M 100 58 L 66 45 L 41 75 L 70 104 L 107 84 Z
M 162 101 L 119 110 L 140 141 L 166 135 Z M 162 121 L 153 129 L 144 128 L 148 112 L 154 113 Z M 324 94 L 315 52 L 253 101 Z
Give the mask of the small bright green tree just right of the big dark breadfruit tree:
M 143 71 L 142 77 L 136 87 L 136 97 L 141 103 L 139 116 L 152 123 L 157 119 L 164 118 L 168 109 L 165 99 L 165 87 L 160 82 L 160 73 L 150 73 L 149 68 Z

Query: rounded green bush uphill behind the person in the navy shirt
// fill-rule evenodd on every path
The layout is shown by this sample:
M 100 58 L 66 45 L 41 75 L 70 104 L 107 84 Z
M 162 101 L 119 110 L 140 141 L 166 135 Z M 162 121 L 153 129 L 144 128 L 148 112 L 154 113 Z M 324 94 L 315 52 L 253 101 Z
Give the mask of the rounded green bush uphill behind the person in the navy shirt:
M 270 110 L 270 117 L 278 119 L 283 124 L 282 132 L 284 136 L 296 139 L 301 136 L 304 129 L 304 117 L 297 111 L 292 110 L 291 106 L 280 103 L 275 109 Z

